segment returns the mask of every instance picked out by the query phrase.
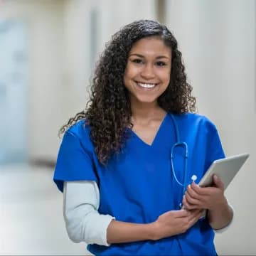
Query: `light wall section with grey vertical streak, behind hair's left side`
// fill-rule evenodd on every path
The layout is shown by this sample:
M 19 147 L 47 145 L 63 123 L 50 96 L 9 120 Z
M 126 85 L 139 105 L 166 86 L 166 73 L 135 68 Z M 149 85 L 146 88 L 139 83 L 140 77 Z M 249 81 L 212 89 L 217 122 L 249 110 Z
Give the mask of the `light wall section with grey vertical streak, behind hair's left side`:
M 66 102 L 63 107 L 68 119 L 85 108 L 87 86 L 105 43 L 126 23 L 142 17 L 155 18 L 154 1 L 66 0 L 64 15 Z

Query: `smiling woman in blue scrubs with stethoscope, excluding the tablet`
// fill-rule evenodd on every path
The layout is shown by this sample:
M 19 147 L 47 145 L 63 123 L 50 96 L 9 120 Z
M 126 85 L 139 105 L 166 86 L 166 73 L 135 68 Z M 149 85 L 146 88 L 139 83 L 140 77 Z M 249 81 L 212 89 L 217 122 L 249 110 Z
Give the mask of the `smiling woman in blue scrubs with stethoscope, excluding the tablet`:
M 191 90 L 166 26 L 134 21 L 114 34 L 89 107 L 60 130 L 54 181 L 70 239 L 95 255 L 216 255 L 213 230 L 233 210 L 218 177 L 194 182 L 224 152 Z

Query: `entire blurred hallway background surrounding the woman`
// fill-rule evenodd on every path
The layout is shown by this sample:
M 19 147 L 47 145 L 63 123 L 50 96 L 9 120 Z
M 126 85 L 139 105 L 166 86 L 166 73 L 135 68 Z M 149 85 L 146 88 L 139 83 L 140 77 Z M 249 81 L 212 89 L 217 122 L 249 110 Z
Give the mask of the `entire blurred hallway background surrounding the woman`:
M 95 60 L 139 18 L 165 23 L 183 53 L 198 112 L 227 156 L 250 153 L 228 187 L 219 255 L 256 255 L 255 0 L 0 0 L 0 255 L 89 255 L 68 239 L 52 176 L 58 129 L 85 108 Z

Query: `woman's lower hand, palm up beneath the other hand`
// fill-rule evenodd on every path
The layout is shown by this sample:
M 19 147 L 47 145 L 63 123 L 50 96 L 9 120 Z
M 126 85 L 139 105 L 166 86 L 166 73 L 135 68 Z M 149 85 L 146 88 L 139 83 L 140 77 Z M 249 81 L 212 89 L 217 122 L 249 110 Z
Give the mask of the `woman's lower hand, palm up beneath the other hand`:
M 154 226 L 154 240 L 168 238 L 172 235 L 185 233 L 201 218 L 203 210 L 170 210 L 163 213 L 152 223 Z

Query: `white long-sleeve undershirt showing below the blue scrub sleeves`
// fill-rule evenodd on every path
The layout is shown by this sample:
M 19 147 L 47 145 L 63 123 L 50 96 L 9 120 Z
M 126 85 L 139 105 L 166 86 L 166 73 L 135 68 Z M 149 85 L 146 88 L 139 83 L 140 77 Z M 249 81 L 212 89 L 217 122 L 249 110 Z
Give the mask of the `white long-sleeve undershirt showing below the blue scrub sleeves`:
M 115 218 L 100 214 L 97 211 L 99 206 L 100 192 L 95 181 L 64 183 L 63 215 L 70 240 L 110 246 L 107 243 L 107 227 Z M 215 230 L 215 233 L 223 233 L 232 222 L 233 220 L 225 228 Z

